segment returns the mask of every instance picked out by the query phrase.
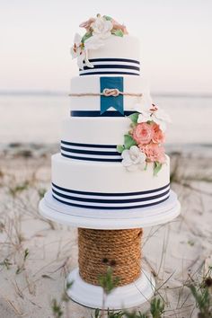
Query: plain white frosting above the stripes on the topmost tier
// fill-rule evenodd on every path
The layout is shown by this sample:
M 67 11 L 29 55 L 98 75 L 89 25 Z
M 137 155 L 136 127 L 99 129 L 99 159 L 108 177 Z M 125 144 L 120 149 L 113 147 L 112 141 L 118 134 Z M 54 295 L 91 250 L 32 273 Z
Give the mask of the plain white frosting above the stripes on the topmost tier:
M 118 37 L 111 35 L 108 39 L 103 40 L 103 47 L 88 51 L 88 58 L 129 58 L 140 60 L 140 44 L 136 37 L 124 35 Z

